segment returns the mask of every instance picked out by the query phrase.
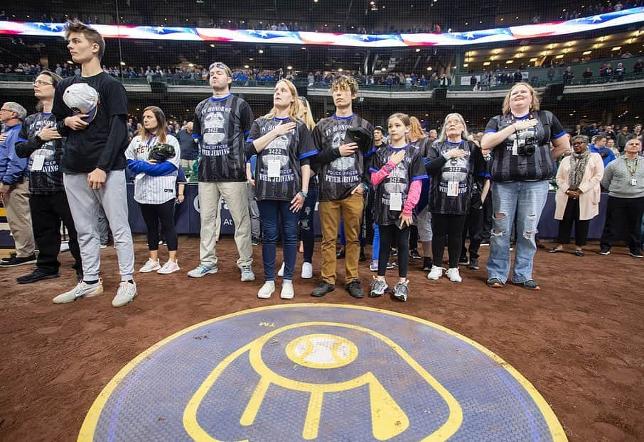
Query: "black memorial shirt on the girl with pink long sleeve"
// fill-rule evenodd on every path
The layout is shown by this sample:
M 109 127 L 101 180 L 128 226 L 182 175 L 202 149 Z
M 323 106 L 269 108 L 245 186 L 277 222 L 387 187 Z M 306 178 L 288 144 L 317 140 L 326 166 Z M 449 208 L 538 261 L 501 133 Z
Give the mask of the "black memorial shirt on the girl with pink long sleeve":
M 373 155 L 369 171 L 371 173 L 378 172 L 382 166 L 387 164 L 392 154 L 402 149 L 406 150 L 402 161 L 375 189 L 373 219 L 379 226 L 390 226 L 400 222 L 399 216 L 402 210 L 391 210 L 390 207 L 392 194 L 401 194 L 402 208 L 404 202 L 407 201 L 407 193 L 412 182 L 418 179 L 427 179 L 421 151 L 414 143 L 409 143 L 402 148 L 392 148 L 387 145 L 378 149 Z

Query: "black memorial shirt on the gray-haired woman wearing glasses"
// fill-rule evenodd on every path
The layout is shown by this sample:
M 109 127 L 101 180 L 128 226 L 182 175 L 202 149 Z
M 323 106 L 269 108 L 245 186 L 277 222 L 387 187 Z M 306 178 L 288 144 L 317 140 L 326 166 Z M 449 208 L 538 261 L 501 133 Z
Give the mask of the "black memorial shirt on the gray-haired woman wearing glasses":
M 445 160 L 443 154 L 454 148 L 466 150 L 468 155 Z M 481 149 L 471 141 L 434 141 L 427 158 L 428 169 L 439 167 L 432 174 L 429 184 L 429 211 L 447 215 L 467 214 L 474 189 L 474 176 L 485 172 Z

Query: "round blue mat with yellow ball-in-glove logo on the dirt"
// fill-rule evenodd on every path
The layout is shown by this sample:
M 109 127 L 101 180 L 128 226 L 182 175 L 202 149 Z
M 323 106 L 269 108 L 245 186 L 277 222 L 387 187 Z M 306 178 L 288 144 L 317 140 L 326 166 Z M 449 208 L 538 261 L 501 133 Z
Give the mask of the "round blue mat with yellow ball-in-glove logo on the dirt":
M 391 311 L 291 304 L 161 341 L 97 397 L 78 441 L 566 441 L 547 402 L 467 338 Z

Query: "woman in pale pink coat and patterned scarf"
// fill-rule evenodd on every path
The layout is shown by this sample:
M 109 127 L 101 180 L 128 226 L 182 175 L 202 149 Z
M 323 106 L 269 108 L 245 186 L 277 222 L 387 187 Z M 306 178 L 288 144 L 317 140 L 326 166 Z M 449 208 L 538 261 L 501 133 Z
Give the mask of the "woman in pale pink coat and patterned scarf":
M 599 214 L 600 189 L 603 177 L 603 161 L 599 153 L 588 149 L 588 137 L 578 135 L 572 139 L 572 155 L 562 160 L 557 170 L 559 189 L 554 197 L 557 206 L 554 219 L 559 219 L 557 247 L 551 253 L 564 251 L 570 242 L 574 224 L 576 249 L 574 254 L 584 256 L 583 247 L 588 238 L 590 220 Z

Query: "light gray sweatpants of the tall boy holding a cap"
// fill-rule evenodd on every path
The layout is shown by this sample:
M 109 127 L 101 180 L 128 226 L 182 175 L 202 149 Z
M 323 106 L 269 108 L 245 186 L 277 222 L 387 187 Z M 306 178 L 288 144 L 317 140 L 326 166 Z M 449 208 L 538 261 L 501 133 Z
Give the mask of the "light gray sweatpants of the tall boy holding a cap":
M 86 173 L 65 173 L 63 182 L 78 233 L 83 279 L 97 280 L 101 266 L 99 214 L 101 206 L 114 237 L 122 281 L 134 274 L 134 245 L 127 219 L 125 171 L 107 172 L 101 189 L 90 189 Z

